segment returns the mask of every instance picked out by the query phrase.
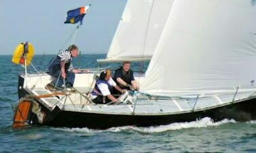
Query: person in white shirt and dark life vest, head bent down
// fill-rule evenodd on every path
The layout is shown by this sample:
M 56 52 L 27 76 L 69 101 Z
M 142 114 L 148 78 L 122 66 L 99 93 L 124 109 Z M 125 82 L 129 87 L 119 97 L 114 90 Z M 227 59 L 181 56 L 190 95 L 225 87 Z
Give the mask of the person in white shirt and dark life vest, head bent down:
M 119 102 L 112 94 L 112 87 L 114 87 L 119 92 L 125 92 L 119 86 L 116 86 L 116 82 L 111 78 L 110 69 L 106 69 L 100 73 L 100 78 L 96 81 L 93 92 L 91 92 L 91 99 L 96 104 L 103 104 L 108 102 Z

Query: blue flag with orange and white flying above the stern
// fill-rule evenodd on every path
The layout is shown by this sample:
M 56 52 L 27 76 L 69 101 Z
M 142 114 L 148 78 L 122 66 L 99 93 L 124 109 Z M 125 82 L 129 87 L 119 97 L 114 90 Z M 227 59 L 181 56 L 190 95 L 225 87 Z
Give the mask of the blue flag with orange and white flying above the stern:
M 89 7 L 90 5 L 87 5 L 86 7 L 83 6 L 68 11 L 68 16 L 66 17 L 64 24 L 77 24 L 77 22 L 82 23 L 83 17 L 85 16 L 85 13 L 87 13 Z

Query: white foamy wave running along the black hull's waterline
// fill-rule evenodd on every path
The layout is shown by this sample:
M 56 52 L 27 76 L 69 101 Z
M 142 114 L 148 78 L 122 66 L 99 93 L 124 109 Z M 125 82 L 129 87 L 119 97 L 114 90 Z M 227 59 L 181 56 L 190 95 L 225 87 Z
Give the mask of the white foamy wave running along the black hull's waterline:
M 88 134 L 101 133 L 104 131 L 110 131 L 110 132 L 138 131 L 142 133 L 161 133 L 165 131 L 172 131 L 172 130 L 174 131 L 174 130 L 180 130 L 180 129 L 213 127 L 213 126 L 219 126 L 226 123 L 236 123 L 236 121 L 234 119 L 223 119 L 222 121 L 214 122 L 213 119 L 211 119 L 210 117 L 205 117 L 197 121 L 171 123 L 169 125 L 158 125 L 158 126 L 152 126 L 152 127 L 123 126 L 123 127 L 111 127 L 110 129 L 105 129 L 105 130 L 88 129 L 87 127 L 71 128 L 71 129 L 66 127 L 64 128 L 54 127 L 53 129 L 60 130 L 60 131 L 68 131 L 68 132 L 74 132 L 74 133 L 88 133 Z

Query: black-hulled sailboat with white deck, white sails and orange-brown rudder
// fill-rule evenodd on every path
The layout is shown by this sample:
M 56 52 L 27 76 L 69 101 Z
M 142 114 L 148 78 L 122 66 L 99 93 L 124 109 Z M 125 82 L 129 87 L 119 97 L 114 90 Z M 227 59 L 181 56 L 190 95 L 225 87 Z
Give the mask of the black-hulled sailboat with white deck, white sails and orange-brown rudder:
M 119 104 L 93 104 L 81 90 L 45 90 L 51 81 L 49 75 L 42 74 L 40 79 L 38 75 L 20 75 L 21 99 L 14 127 L 35 124 L 106 129 L 167 125 L 203 117 L 214 121 L 256 119 L 255 13 L 254 1 L 172 1 L 140 91 L 126 92 Z M 109 52 L 105 60 L 135 59 L 121 57 L 127 48 L 118 36 L 115 34 L 110 47 L 110 51 L 116 49 L 115 54 Z M 146 51 L 142 49 L 143 58 L 150 57 Z M 74 86 L 79 88 L 85 77 L 93 82 L 93 75 L 76 75 Z

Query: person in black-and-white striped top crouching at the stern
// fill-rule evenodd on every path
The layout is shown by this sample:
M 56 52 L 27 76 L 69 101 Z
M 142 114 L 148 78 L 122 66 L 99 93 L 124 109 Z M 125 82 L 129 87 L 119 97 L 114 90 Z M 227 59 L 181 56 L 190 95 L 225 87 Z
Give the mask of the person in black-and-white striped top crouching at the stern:
M 68 47 L 68 50 L 61 51 L 58 53 L 57 57 L 54 57 L 49 64 L 48 71 L 49 74 L 54 76 L 54 86 L 62 87 L 64 81 L 66 82 L 66 88 L 70 88 L 74 85 L 74 73 L 83 73 L 87 72 L 86 70 L 82 71 L 80 69 L 74 69 L 72 65 L 72 59 L 77 57 L 78 47 L 74 44 Z

